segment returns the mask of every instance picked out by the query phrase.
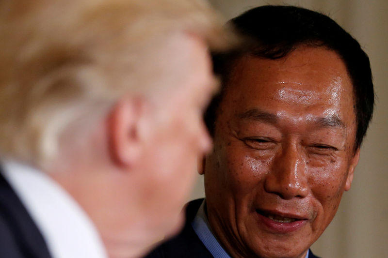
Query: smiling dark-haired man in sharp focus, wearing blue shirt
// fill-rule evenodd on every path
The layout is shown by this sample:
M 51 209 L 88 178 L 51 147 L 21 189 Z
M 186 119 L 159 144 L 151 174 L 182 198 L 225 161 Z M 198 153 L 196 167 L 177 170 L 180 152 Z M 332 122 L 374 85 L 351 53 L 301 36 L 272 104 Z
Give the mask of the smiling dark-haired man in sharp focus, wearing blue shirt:
M 223 90 L 206 121 L 205 200 L 150 257 L 314 258 L 350 189 L 372 117 L 370 63 L 325 15 L 263 6 L 231 20 L 246 37 L 215 57 Z

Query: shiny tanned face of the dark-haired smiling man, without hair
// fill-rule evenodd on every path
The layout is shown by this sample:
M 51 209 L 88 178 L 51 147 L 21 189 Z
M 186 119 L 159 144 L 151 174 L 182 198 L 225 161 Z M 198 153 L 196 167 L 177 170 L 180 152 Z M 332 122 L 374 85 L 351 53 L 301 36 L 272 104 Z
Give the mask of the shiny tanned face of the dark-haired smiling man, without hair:
M 351 80 L 339 56 L 299 47 L 237 61 L 205 164 L 210 225 L 233 257 L 304 257 L 358 161 Z

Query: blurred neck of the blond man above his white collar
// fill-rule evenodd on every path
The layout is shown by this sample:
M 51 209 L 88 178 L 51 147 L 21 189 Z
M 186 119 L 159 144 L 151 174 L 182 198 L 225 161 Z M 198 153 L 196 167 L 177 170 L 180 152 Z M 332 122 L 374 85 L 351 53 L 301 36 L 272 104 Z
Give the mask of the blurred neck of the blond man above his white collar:
M 96 167 L 50 175 L 94 222 L 110 258 L 140 258 L 150 251 L 153 243 L 162 240 L 163 235 L 158 236 L 154 225 L 149 225 L 151 219 L 141 207 L 144 200 L 131 198 L 140 192 L 136 184 L 125 182 L 124 174 L 113 168 L 109 171 L 113 177 L 104 176 Z

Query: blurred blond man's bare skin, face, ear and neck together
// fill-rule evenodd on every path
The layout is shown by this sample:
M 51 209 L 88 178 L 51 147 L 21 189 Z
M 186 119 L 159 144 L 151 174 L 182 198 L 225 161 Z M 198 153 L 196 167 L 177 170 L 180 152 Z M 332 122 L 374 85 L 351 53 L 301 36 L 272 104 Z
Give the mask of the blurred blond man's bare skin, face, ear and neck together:
M 197 158 L 211 148 L 202 111 L 217 84 L 207 45 L 177 33 L 159 47 L 149 74 L 164 87 L 123 96 L 79 148 L 62 152 L 65 166 L 49 171 L 92 219 L 111 258 L 141 257 L 178 232 Z

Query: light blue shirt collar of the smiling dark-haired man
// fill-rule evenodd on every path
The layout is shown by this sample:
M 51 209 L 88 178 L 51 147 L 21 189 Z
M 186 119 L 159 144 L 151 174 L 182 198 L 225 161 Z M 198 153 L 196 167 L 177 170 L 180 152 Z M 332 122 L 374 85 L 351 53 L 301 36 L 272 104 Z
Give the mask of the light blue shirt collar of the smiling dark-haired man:
M 206 246 L 213 257 L 231 258 L 211 231 L 209 220 L 205 213 L 205 200 L 199 207 L 198 212 L 191 223 L 191 226 L 193 227 L 195 234 L 197 234 L 201 242 Z M 308 258 L 308 252 L 309 250 L 307 250 L 305 258 Z

